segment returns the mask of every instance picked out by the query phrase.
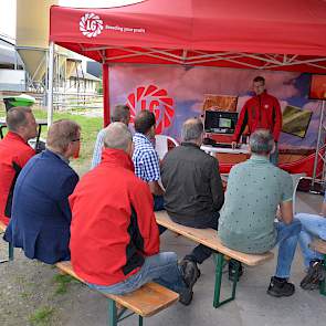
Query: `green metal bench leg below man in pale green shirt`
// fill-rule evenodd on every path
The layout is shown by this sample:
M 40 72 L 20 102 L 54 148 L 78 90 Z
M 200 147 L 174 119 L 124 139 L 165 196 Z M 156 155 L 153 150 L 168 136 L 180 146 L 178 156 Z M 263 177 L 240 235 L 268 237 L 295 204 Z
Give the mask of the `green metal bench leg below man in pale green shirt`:
M 223 273 L 223 262 L 224 262 L 224 255 L 221 253 L 214 253 L 215 259 L 215 286 L 214 286 L 214 298 L 213 298 L 213 307 L 218 308 L 221 305 L 233 301 L 235 298 L 235 290 L 236 290 L 236 283 L 239 278 L 239 262 L 235 262 L 235 275 L 232 283 L 232 294 L 229 298 L 225 298 L 224 301 L 221 301 L 221 284 L 222 284 L 222 273 Z

